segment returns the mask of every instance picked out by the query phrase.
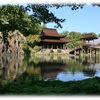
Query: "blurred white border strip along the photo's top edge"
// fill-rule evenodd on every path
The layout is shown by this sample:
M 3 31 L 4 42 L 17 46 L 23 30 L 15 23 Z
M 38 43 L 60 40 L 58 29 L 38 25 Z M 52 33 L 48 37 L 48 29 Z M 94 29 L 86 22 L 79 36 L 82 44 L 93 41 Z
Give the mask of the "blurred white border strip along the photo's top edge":
M 26 4 L 26 3 L 100 3 L 100 0 L 0 0 L 0 4 Z

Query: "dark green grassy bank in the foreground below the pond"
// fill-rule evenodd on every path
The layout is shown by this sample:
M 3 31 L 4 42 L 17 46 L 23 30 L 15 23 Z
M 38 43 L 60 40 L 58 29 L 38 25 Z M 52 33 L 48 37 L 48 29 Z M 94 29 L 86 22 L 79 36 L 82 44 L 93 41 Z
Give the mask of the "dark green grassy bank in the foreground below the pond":
M 13 81 L 0 85 L 1 95 L 99 95 L 100 78 L 83 81 Z

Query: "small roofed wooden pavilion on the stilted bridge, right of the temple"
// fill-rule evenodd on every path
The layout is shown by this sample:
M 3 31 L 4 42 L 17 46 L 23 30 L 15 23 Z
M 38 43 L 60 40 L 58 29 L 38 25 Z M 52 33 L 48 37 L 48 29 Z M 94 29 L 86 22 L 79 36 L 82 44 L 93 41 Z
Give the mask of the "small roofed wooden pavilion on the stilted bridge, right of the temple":
M 85 53 L 86 54 L 87 53 L 92 54 L 92 51 L 94 51 L 95 55 L 96 55 L 96 50 L 98 48 L 96 48 L 95 45 L 94 45 L 94 40 L 95 39 L 98 39 L 98 37 L 95 34 L 93 34 L 93 33 L 84 34 L 80 38 L 80 40 L 82 40 L 82 43 L 80 42 L 82 47 L 76 48 L 75 50 L 72 50 L 69 53 L 70 54 L 76 54 L 76 52 L 79 52 L 79 54 L 80 54 L 80 51 L 82 51 L 83 54 L 85 54 Z M 91 42 L 91 44 L 90 44 L 89 43 L 90 41 L 93 41 L 93 43 Z

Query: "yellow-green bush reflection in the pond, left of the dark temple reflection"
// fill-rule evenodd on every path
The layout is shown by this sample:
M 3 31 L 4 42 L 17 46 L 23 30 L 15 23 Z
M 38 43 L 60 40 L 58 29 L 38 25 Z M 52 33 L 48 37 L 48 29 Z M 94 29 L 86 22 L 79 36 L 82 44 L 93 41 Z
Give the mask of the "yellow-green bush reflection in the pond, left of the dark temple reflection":
M 40 80 L 41 79 L 41 73 L 40 73 L 40 66 L 38 64 L 40 59 L 37 59 L 34 56 L 26 56 L 25 57 L 26 61 L 24 61 L 24 64 L 26 65 L 26 70 L 21 74 L 17 80 L 22 80 L 22 81 L 28 81 L 28 80 Z

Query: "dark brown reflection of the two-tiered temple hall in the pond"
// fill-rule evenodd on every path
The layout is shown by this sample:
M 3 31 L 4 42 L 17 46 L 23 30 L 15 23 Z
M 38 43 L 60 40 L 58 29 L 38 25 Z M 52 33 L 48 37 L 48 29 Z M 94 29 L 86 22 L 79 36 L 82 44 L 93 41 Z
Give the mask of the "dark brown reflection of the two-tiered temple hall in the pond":
M 67 70 L 67 64 L 63 62 L 40 62 L 41 76 L 43 80 L 56 79 L 59 72 Z

